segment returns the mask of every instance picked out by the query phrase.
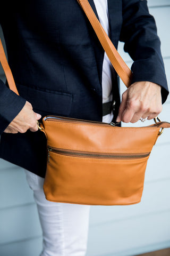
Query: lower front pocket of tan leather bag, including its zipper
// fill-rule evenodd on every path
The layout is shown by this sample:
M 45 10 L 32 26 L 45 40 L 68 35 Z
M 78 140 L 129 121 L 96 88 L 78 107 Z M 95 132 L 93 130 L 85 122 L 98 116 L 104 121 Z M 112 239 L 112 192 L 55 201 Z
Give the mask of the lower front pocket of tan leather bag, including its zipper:
M 148 153 L 94 153 L 48 147 L 49 201 L 125 205 L 141 200 Z

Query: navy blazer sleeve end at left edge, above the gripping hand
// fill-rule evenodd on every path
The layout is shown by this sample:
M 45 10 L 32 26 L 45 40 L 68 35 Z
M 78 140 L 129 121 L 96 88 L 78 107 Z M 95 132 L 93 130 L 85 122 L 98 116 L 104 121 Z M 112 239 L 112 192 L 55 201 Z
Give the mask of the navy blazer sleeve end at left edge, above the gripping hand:
M 26 100 L 8 89 L 0 79 L 0 135 L 19 114 Z

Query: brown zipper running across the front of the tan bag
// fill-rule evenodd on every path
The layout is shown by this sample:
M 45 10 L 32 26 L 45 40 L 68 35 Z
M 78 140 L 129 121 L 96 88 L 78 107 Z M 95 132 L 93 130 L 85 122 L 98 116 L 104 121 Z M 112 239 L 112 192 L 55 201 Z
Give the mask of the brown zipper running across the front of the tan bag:
M 87 157 L 87 158 L 104 158 L 104 159 L 136 159 L 136 158 L 144 158 L 150 155 L 148 153 L 96 153 L 96 152 L 87 152 L 87 151 L 79 151 L 79 150 L 70 150 L 70 149 L 62 149 L 47 146 L 48 151 L 48 162 L 50 158 L 50 152 L 65 155 L 65 156 L 75 156 L 75 157 Z

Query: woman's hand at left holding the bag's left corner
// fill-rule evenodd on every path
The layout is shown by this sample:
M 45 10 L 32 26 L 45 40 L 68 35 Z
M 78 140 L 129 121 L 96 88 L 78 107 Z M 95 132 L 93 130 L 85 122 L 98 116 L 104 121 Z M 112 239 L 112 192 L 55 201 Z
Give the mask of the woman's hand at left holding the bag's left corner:
M 13 119 L 13 121 L 6 127 L 5 133 L 24 133 L 27 130 L 31 132 L 38 131 L 37 120 L 41 118 L 40 114 L 32 110 L 32 105 L 28 101 L 25 102 L 24 107 L 20 113 Z

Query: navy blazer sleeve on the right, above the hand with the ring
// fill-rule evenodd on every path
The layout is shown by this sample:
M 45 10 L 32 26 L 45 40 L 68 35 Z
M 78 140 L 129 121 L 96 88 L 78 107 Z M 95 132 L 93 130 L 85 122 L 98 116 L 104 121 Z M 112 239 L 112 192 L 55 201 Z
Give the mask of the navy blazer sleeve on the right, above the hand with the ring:
M 154 17 L 149 14 L 146 0 L 123 0 L 122 4 L 120 41 L 134 61 L 132 83 L 149 81 L 161 85 L 164 103 L 168 86 Z

